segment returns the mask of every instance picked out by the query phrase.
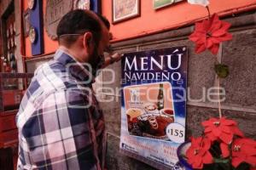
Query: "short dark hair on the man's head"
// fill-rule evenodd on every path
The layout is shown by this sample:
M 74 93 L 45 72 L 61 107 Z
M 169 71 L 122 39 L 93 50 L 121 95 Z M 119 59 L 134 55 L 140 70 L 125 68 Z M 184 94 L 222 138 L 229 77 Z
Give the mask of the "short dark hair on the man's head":
M 90 11 L 75 9 L 61 18 L 57 26 L 58 41 L 68 47 L 77 41 L 76 34 L 84 34 L 85 31 L 92 33 L 96 45 L 100 42 L 102 37 L 100 20 L 97 20 L 96 15 Z

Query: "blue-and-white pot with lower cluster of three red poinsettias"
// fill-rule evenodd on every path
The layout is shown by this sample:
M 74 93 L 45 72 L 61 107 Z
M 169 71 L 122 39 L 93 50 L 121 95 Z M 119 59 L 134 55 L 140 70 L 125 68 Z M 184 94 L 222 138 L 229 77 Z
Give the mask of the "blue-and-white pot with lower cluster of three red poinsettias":
M 256 141 L 225 117 L 202 122 L 204 133 L 182 144 L 177 155 L 186 169 L 255 170 Z M 182 153 L 183 150 L 183 153 Z

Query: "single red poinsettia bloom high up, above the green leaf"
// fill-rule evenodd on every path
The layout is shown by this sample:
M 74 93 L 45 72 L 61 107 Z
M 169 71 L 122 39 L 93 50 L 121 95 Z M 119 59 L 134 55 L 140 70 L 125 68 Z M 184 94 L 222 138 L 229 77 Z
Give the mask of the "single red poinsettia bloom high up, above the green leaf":
M 195 53 L 199 54 L 208 48 L 212 54 L 217 54 L 219 43 L 232 39 L 228 32 L 230 26 L 230 23 L 219 20 L 218 14 L 196 22 L 195 31 L 189 36 L 189 39 L 196 43 Z

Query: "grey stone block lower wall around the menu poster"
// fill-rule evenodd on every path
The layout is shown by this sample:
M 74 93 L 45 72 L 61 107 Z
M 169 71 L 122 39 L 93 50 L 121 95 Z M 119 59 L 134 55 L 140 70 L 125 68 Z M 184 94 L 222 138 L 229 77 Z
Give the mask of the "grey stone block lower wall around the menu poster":
M 233 40 L 224 42 L 217 56 L 209 52 L 194 53 L 194 43 L 188 40 L 189 34 L 194 29 L 193 26 L 113 43 L 113 48 L 119 53 L 183 45 L 189 48 L 190 99 L 187 103 L 187 138 L 201 134 L 201 121 L 210 116 L 218 116 L 217 103 L 199 100 L 203 95 L 203 88 L 217 86 L 217 77 L 213 71 L 217 57 L 219 61 L 230 67 L 230 76 L 220 81 L 220 86 L 225 88 L 226 92 L 226 99 L 222 103 L 223 115 L 235 119 L 247 137 L 256 139 L 256 131 L 253 128 L 256 122 L 256 13 L 240 14 L 225 20 L 232 24 L 230 32 Z M 103 88 L 99 98 L 113 99 L 112 102 L 101 103 L 108 128 L 108 169 L 154 169 L 119 153 L 120 95 L 110 93 L 108 88 L 120 87 L 120 63 L 110 65 L 108 69 L 114 71 L 115 81 L 95 85 L 95 88 Z M 98 79 L 109 82 L 112 78 L 108 71 L 103 71 Z

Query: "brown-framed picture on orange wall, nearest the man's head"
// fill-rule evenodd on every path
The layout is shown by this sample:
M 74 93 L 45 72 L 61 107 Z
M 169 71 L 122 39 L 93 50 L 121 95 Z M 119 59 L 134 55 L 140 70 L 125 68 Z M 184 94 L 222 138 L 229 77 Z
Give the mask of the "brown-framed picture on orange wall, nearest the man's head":
M 113 24 L 140 15 L 140 0 L 112 0 Z

